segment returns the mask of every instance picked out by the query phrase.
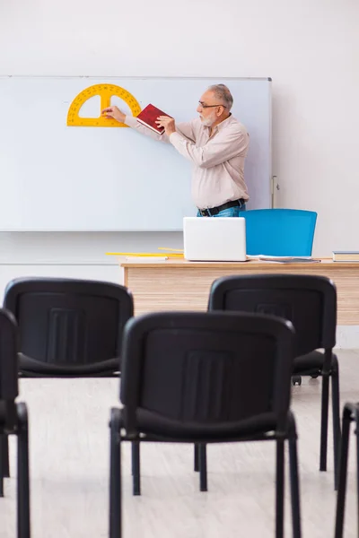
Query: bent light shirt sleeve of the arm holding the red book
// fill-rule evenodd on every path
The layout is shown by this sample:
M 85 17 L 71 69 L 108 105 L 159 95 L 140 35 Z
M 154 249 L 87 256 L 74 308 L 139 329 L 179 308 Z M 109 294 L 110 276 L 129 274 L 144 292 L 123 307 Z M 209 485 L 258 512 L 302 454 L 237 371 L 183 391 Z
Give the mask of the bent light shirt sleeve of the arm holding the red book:
M 241 155 L 248 147 L 248 134 L 241 129 L 225 130 L 215 135 L 204 147 L 197 148 L 180 133 L 172 133 L 170 142 L 183 157 L 197 164 L 199 168 L 212 168 Z

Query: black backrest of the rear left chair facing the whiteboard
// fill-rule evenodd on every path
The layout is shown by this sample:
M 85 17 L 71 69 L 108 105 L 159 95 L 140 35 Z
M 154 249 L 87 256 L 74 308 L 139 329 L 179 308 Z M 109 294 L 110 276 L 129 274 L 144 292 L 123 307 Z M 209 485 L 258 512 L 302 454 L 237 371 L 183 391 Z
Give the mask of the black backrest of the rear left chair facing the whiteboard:
M 113 360 L 116 370 L 133 299 L 110 282 L 20 278 L 7 285 L 4 308 L 19 325 L 20 351 L 31 359 L 66 366 L 68 373 Z

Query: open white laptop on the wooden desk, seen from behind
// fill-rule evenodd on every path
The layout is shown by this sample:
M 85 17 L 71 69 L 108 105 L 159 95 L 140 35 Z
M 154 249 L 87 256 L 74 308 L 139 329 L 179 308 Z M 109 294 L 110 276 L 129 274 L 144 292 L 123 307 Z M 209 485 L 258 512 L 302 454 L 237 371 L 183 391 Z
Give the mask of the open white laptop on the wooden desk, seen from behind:
M 243 217 L 184 217 L 184 258 L 202 262 L 245 262 Z

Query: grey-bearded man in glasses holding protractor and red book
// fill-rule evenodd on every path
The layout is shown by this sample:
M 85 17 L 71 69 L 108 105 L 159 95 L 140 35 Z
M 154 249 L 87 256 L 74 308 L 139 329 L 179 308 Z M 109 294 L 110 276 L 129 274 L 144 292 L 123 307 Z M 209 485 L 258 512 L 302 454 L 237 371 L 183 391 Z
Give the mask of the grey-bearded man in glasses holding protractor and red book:
M 158 126 L 164 134 L 156 134 L 127 116 L 118 107 L 102 110 L 105 117 L 135 128 L 157 140 L 171 143 L 193 163 L 192 196 L 197 216 L 238 217 L 249 200 L 244 181 L 244 161 L 249 148 L 249 134 L 232 117 L 233 98 L 224 84 L 210 86 L 199 100 L 199 117 L 176 124 L 172 117 L 160 116 Z

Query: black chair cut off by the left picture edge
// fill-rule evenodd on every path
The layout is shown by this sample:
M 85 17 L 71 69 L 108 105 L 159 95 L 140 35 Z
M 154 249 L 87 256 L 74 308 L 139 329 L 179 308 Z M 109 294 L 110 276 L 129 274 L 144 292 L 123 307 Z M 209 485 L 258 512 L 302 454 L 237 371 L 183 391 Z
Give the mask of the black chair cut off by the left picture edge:
M 26 404 L 15 402 L 19 394 L 17 350 L 16 321 L 0 309 L 0 436 L 17 436 L 17 536 L 30 538 L 28 412 Z M 3 476 L 0 497 L 4 497 Z

